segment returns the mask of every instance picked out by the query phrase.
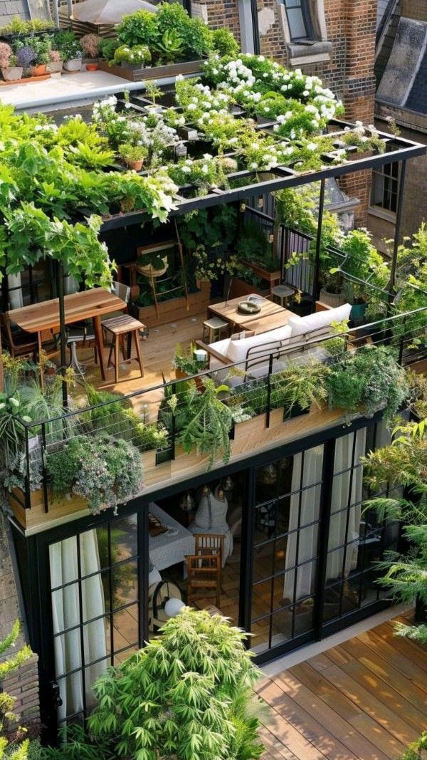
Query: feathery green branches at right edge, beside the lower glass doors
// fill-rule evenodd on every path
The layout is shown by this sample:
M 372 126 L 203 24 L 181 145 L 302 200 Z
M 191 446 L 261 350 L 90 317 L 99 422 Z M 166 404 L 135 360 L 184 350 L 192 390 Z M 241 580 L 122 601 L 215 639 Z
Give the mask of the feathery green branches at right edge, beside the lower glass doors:
M 427 604 L 427 419 L 394 429 L 391 445 L 371 451 L 362 461 L 373 489 L 406 486 L 406 499 L 378 497 L 366 502 L 381 520 L 403 522 L 403 536 L 411 548 L 406 555 L 388 553 L 378 567 L 381 584 L 404 603 Z M 397 625 L 397 635 L 427 644 L 427 625 Z

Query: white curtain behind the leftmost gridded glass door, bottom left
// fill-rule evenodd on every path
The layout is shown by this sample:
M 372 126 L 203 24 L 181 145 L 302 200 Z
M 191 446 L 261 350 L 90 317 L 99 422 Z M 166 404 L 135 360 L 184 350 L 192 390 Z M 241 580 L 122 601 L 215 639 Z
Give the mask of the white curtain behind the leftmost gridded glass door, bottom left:
M 71 628 L 73 625 L 105 613 L 103 584 L 101 581 L 100 558 L 98 553 L 98 541 L 96 530 L 88 530 L 80 535 L 81 552 L 81 575 L 98 573 L 91 578 L 81 581 L 82 617 L 79 607 L 78 565 L 77 565 L 77 537 L 65 539 L 49 546 L 51 587 L 59 588 L 52 592 L 52 619 L 54 633 Z M 84 663 L 99 660 L 106 657 L 106 631 L 105 619 L 100 618 L 88 625 L 84 625 Z M 57 676 L 68 673 L 71 670 L 81 668 L 81 629 L 55 636 L 55 669 Z M 87 705 L 93 703 L 93 695 L 90 686 L 93 681 L 103 673 L 106 668 L 106 660 L 85 667 L 85 696 Z M 84 708 L 84 682 L 81 670 L 77 670 L 71 676 L 59 679 L 59 691 L 62 698 L 62 706 L 59 708 L 59 719 L 65 718 L 74 712 Z

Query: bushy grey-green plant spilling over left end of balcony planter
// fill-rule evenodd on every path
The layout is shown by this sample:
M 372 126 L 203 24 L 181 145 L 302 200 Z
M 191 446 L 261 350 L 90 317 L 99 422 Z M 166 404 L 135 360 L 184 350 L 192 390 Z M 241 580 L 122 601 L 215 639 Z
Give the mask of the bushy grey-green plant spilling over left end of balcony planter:
M 144 475 L 138 448 L 106 434 L 68 439 L 47 455 L 46 470 L 54 496 L 81 496 L 93 515 L 136 496 Z

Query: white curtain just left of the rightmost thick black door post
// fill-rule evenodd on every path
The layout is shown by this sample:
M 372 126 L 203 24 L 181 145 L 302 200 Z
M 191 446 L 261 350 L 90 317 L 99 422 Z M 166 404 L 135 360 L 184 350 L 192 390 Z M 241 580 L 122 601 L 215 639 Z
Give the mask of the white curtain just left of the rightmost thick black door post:
M 304 472 L 301 482 L 302 454 L 296 454 L 293 458 L 292 492 L 289 511 L 289 530 L 298 527 L 299 515 L 299 489 L 301 492 L 301 515 L 300 525 L 318 520 L 319 504 L 321 496 L 321 474 L 323 467 L 323 445 L 309 448 L 304 454 Z M 318 485 L 315 485 L 315 484 Z M 311 486 L 311 487 L 310 487 Z M 286 567 L 305 562 L 307 559 L 317 556 L 318 553 L 318 524 L 302 527 L 299 530 L 298 559 L 296 560 L 297 533 L 288 536 L 286 543 Z M 289 570 L 285 573 L 283 597 L 293 601 L 296 574 L 295 600 L 312 594 L 315 584 L 316 562 L 308 562 L 306 565 Z

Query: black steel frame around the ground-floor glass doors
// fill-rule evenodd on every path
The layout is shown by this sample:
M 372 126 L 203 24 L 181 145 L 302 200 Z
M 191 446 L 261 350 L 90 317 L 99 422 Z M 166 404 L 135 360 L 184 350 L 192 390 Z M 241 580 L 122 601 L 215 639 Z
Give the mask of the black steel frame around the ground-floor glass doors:
M 245 502 L 248 508 L 243 513 L 242 524 L 242 555 L 241 555 L 241 584 L 239 591 L 239 625 L 246 630 L 251 625 L 251 599 L 252 599 L 252 553 L 255 535 L 255 472 L 258 467 L 269 464 L 279 458 L 291 457 L 309 448 L 317 445 L 324 445 L 324 464 L 322 472 L 321 486 L 321 505 L 319 513 L 319 530 L 318 530 L 318 578 L 315 594 L 318 596 L 318 603 L 315 606 L 315 618 L 313 629 L 302 635 L 286 641 L 279 646 L 269 649 L 258 654 L 256 658 L 258 663 L 266 662 L 274 657 L 285 654 L 286 651 L 299 648 L 314 639 L 324 638 L 330 632 L 342 629 L 350 625 L 357 619 L 362 619 L 372 615 L 378 610 L 384 609 L 388 602 L 384 599 L 378 599 L 365 607 L 356 609 L 353 613 L 343 614 L 339 619 L 331 622 L 322 620 L 322 604 L 324 595 L 324 580 L 327 562 L 327 545 L 322 537 L 327 535 L 327 525 L 331 511 L 331 487 L 334 464 L 335 440 L 342 435 L 372 426 L 381 421 L 381 413 L 375 414 L 370 419 L 359 418 L 354 420 L 350 426 L 334 426 L 331 429 L 307 435 L 298 441 L 282 445 L 277 448 L 264 451 L 261 454 L 255 454 L 242 462 L 236 462 L 224 467 L 220 467 L 214 472 L 214 477 L 218 480 L 225 478 L 227 475 L 242 471 L 242 464 L 246 472 L 245 478 Z M 213 473 L 212 473 L 213 474 Z M 206 482 L 206 473 L 196 476 L 191 480 L 191 486 L 197 488 Z M 28 576 L 28 587 L 24 589 L 25 602 L 28 610 L 27 625 L 30 635 L 30 644 L 40 657 L 40 704 L 42 710 L 43 724 L 46 725 L 45 738 L 49 741 L 55 741 L 56 736 L 56 706 L 55 695 L 57 694 L 57 684 L 55 680 L 55 658 L 52 647 L 54 638 L 52 616 L 47 613 L 51 610 L 50 598 L 50 571 L 49 571 L 49 545 L 66 538 L 76 536 L 96 527 L 102 527 L 103 524 L 110 524 L 114 527 L 117 521 L 128 515 L 137 514 L 137 539 L 138 539 L 138 606 L 140 610 L 138 625 L 138 644 L 144 645 L 144 641 L 149 638 L 148 632 L 148 609 L 147 609 L 147 587 L 148 587 L 148 563 L 145 558 L 148 557 L 148 504 L 153 499 L 165 499 L 170 496 L 176 496 L 182 492 L 184 483 L 174 483 L 170 486 L 164 486 L 149 496 L 133 499 L 124 505 L 117 517 L 103 516 L 94 517 L 90 515 L 80 518 L 71 523 L 63 524 L 59 527 L 49 527 L 48 530 L 25 537 L 24 530 L 14 520 L 9 518 L 12 528 L 12 534 L 16 540 L 24 540 L 26 547 L 26 561 L 31 572 Z M 337 547 L 336 547 L 337 548 Z

